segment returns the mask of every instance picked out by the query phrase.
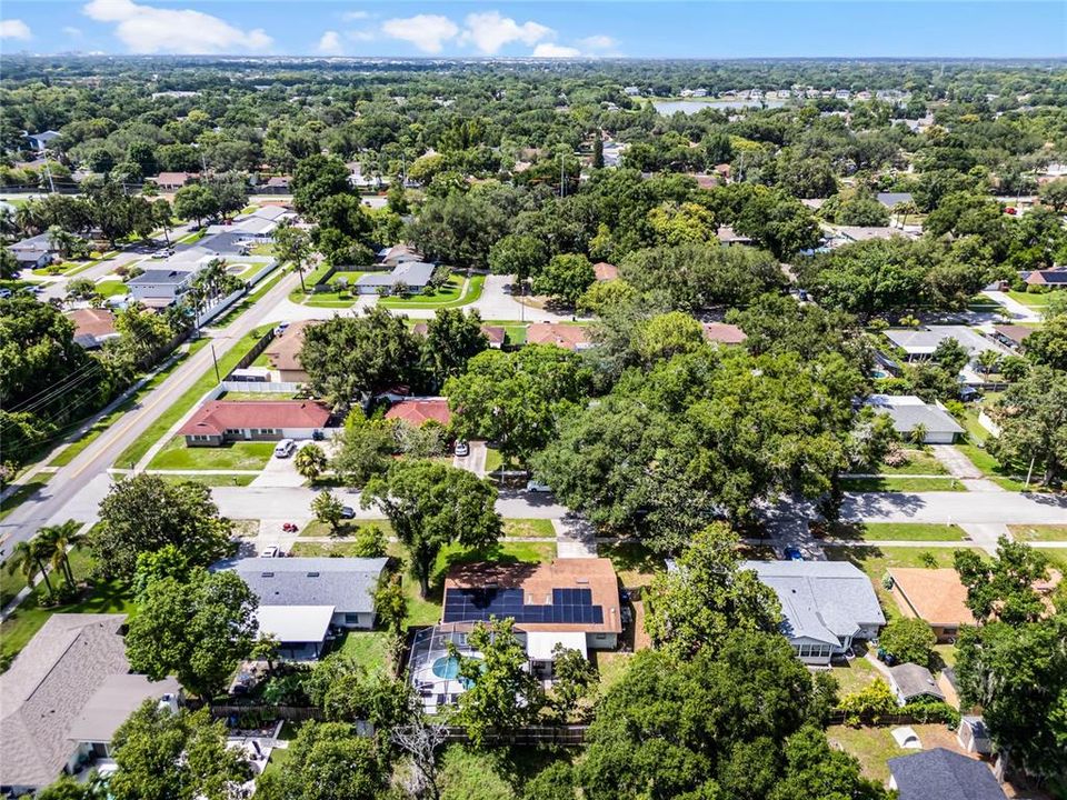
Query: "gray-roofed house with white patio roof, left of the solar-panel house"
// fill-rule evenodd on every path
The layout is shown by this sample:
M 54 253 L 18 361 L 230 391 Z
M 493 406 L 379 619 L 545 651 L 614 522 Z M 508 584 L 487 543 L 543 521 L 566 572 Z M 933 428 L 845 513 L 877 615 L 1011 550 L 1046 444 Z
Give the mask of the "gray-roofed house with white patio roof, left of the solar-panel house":
M 260 624 L 291 658 L 315 658 L 329 627 L 371 630 L 385 558 L 249 558 L 232 569 L 259 598 Z M 269 609 L 269 610 L 267 610 Z

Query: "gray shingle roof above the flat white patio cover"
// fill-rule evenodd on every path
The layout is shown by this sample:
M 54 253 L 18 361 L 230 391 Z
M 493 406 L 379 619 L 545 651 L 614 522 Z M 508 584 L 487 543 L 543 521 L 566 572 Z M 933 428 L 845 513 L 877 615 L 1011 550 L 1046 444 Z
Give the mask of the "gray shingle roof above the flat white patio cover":
M 252 558 L 233 569 L 260 606 L 333 606 L 338 613 L 370 613 L 387 559 Z

